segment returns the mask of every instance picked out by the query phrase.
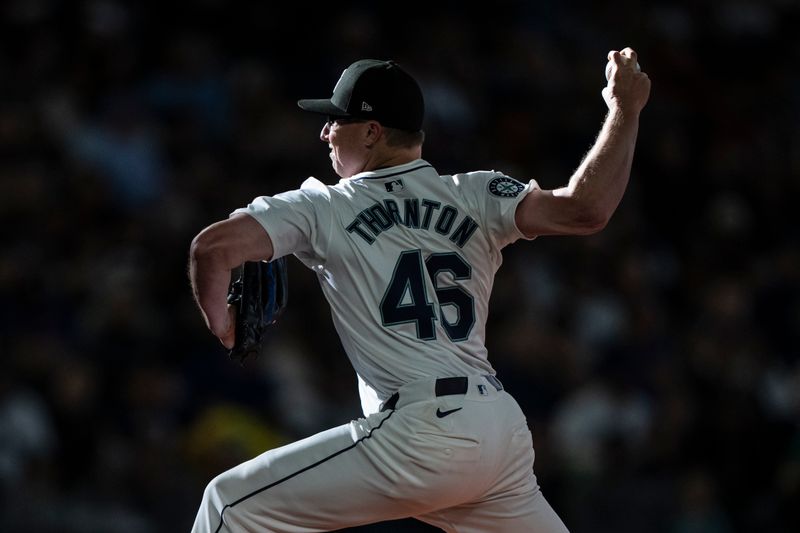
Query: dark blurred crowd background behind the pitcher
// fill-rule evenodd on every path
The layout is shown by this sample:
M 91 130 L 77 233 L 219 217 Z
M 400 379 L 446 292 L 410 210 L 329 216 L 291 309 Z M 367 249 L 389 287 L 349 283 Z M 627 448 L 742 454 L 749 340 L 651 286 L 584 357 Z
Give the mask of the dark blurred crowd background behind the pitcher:
M 594 141 L 606 54 L 627 45 L 653 81 L 630 187 L 600 234 L 506 249 L 491 359 L 572 531 L 800 531 L 796 0 L 5 0 L 0 16 L 0 531 L 188 531 L 214 475 L 360 416 L 298 261 L 244 368 L 186 277 L 206 225 L 334 181 L 298 98 L 393 58 L 426 94 L 440 173 L 551 188 Z

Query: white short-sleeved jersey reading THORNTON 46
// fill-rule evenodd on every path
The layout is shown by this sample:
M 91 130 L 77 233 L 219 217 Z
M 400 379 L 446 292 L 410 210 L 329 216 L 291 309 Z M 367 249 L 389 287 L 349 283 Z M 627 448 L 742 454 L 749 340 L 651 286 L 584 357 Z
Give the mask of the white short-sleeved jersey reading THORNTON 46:
M 365 415 L 404 384 L 494 374 L 485 324 L 501 249 L 534 187 L 498 172 L 440 176 L 424 160 L 256 198 L 274 257 L 315 271 Z

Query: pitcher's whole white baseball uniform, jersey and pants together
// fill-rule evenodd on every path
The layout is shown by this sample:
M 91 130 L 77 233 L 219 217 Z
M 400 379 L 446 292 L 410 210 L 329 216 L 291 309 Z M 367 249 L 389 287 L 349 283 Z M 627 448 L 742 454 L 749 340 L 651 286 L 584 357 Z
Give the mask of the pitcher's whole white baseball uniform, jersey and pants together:
M 317 272 L 364 418 L 265 451 L 206 487 L 193 533 L 308 533 L 413 516 L 448 533 L 567 533 L 525 415 L 487 360 L 500 250 L 532 188 L 423 160 L 309 179 L 236 212 Z M 383 405 L 381 405 L 383 404 Z

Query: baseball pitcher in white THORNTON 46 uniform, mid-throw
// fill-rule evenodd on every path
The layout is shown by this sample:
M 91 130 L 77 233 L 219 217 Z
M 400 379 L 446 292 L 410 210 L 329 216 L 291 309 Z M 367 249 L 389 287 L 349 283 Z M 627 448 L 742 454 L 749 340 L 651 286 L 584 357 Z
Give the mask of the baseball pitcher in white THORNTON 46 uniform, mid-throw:
M 602 129 L 555 190 L 497 171 L 440 175 L 422 159 L 420 87 L 393 61 L 356 61 L 330 98 L 298 102 L 325 117 L 320 139 L 341 179 L 309 178 L 205 228 L 191 244 L 191 284 L 233 351 L 252 328 L 237 327 L 245 312 L 229 304 L 231 272 L 274 263 L 250 305 L 250 323 L 268 327 L 287 292 L 275 261 L 294 255 L 330 304 L 363 417 L 221 473 L 192 531 L 330 531 L 404 517 L 459 533 L 567 531 L 537 483 L 531 432 L 495 375 L 485 326 L 504 247 L 597 232 L 622 198 L 650 80 L 630 48 L 609 52 L 607 73 Z

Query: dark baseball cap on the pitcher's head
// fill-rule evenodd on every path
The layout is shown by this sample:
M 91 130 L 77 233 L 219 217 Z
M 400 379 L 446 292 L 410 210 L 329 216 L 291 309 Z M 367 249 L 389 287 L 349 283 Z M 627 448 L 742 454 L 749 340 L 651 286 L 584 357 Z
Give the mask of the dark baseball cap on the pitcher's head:
M 298 100 L 305 111 L 377 120 L 388 128 L 422 129 L 425 101 L 416 80 L 394 61 L 361 59 L 347 67 L 330 98 Z

